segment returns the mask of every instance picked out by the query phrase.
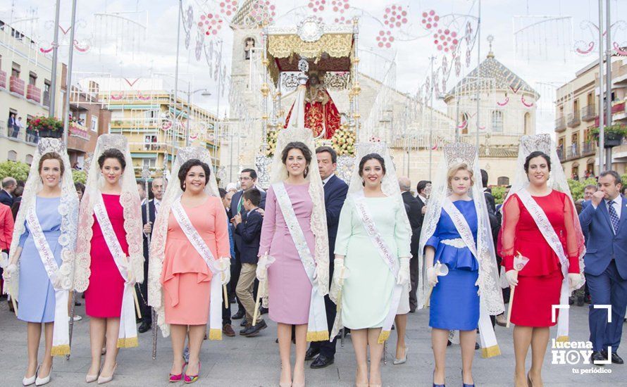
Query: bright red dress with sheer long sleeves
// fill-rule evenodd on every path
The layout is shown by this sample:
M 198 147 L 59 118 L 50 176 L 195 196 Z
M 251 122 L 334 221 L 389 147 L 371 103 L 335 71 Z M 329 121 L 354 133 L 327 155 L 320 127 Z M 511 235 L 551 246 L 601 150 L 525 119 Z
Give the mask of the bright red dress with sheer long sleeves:
M 569 273 L 579 273 L 578 248 L 576 243 L 573 210 L 570 198 L 563 192 L 553 190 L 546 196 L 531 196 L 545 212 L 555 233 L 559 236 L 569 260 Z M 576 215 L 574 215 L 576 216 Z M 514 269 L 514 255 L 529 258 L 529 262 L 518 274 L 519 283 L 514 293 L 511 322 L 521 326 L 554 326 L 552 305 L 559 304 L 561 263 L 535 220 L 514 194 L 503 205 L 502 234 L 499 241 L 502 265 L 506 272 Z

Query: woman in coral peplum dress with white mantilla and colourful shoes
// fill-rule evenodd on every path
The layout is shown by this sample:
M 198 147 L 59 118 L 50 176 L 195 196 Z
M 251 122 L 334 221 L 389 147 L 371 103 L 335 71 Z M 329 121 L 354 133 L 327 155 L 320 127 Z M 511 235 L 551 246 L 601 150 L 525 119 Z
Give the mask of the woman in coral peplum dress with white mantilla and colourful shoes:
M 201 161 L 202 159 L 203 161 Z M 228 219 L 204 148 L 182 148 L 155 222 L 149 263 L 149 305 L 170 333 L 170 382 L 198 380 L 200 348 L 222 338 L 222 285 L 229 281 Z M 185 363 L 185 338 L 190 360 Z

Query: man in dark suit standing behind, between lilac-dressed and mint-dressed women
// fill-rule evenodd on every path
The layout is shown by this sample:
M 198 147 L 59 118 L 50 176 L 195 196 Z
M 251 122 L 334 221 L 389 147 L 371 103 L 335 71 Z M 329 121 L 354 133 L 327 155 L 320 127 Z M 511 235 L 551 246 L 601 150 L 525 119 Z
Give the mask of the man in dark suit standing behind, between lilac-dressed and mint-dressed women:
M 348 186 L 339 177 L 335 176 L 337 167 L 337 153 L 330 146 L 319 146 L 316 148 L 316 159 L 318 160 L 318 172 L 324 187 L 324 204 L 327 214 L 327 229 L 329 235 L 329 281 L 333 280 L 333 260 L 335 259 L 335 238 L 337 236 L 337 224 L 340 222 L 340 211 L 348 194 Z M 327 312 L 327 324 L 329 333 L 333 329 L 335 322 L 335 312 L 337 307 L 330 300 L 329 296 L 324 297 L 324 306 Z M 335 362 L 335 344 L 333 341 L 313 341 L 305 355 L 305 360 L 311 360 L 316 355 L 316 360 L 311 363 L 311 368 L 324 368 Z

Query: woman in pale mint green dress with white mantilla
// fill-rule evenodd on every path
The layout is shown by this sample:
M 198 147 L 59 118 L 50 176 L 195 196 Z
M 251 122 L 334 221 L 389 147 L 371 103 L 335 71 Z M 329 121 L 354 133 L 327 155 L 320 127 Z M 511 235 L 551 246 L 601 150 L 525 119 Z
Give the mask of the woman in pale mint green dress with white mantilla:
M 364 146 L 387 156 L 383 144 Z M 411 229 L 393 165 L 380 153 L 357 158 L 359 166 L 340 213 L 335 241 L 331 296 L 338 313 L 331 337 L 341 326 L 351 329 L 356 386 L 381 385 L 383 342 L 390 336 L 400 299 L 406 296 L 403 287 L 409 282 Z

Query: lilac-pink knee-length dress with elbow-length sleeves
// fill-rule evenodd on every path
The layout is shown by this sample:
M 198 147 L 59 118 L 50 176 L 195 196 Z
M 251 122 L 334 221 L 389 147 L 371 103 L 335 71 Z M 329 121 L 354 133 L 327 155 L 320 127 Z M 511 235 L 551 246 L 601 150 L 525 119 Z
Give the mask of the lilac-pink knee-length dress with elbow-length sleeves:
M 311 212 L 314 210 L 314 203 L 309 196 L 309 183 L 285 184 L 285 189 L 287 196 L 290 196 L 307 246 L 311 255 L 314 255 L 314 231 L 311 231 Z M 266 194 L 266 212 L 261 226 L 259 256 L 268 253 L 275 258 L 268 267 L 268 313 L 271 320 L 281 324 L 307 324 L 311 303 L 311 282 L 294 246 L 290 230 L 287 229 L 272 186 Z

